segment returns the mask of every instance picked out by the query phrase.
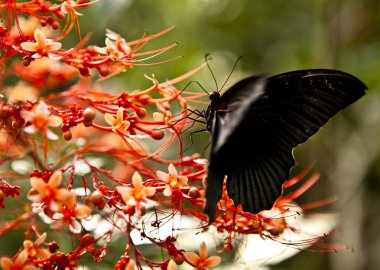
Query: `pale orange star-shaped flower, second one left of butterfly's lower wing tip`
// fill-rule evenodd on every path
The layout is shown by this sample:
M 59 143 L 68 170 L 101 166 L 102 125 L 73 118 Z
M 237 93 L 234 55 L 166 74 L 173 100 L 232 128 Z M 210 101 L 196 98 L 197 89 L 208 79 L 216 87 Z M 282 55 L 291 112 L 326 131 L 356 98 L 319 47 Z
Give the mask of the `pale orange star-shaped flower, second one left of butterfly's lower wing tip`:
M 148 197 L 156 193 L 155 188 L 144 187 L 141 175 L 138 172 L 135 172 L 132 176 L 132 187 L 118 186 L 116 189 L 127 206 L 156 204 L 154 201 L 148 199 Z

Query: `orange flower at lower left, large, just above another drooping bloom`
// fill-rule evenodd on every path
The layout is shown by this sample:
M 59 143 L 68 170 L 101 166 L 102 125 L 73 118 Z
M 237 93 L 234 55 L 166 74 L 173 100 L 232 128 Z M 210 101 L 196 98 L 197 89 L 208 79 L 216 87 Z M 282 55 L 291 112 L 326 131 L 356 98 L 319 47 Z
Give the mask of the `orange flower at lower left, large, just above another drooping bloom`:
M 40 177 L 31 177 L 32 189 L 28 193 L 28 199 L 36 203 L 45 203 L 51 211 L 58 211 L 74 195 L 64 188 L 58 189 L 61 182 L 61 171 L 55 171 L 47 183 Z

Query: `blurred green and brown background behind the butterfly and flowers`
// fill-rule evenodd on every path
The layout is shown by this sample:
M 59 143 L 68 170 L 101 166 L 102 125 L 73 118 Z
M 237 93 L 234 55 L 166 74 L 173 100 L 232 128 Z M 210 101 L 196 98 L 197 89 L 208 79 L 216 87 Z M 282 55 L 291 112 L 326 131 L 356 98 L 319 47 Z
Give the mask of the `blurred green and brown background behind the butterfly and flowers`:
M 135 68 L 108 82 L 119 89 L 147 87 L 143 74 L 154 73 L 161 81 L 179 76 L 202 63 L 206 53 L 213 58 L 211 66 L 219 85 L 242 54 L 245 57 L 228 85 L 251 74 L 306 68 L 340 69 L 363 80 L 369 88 L 367 96 L 295 151 L 298 167 L 294 171 L 316 162 L 313 171 L 321 174 L 301 201 L 336 195 L 338 201 L 328 209 L 338 214 L 333 241 L 352 246 L 353 251 L 301 252 L 271 269 L 380 269 L 378 0 L 105 0 L 84 13 L 82 31 L 92 32 L 92 41 L 102 46 L 106 28 L 131 40 L 144 31 L 155 33 L 175 26 L 153 41 L 153 48 L 179 42 L 162 59 L 184 57 Z M 192 79 L 215 90 L 206 69 Z M 195 86 L 192 90 L 201 91 Z M 195 150 L 202 150 L 202 140 L 207 140 L 206 134 L 197 137 Z

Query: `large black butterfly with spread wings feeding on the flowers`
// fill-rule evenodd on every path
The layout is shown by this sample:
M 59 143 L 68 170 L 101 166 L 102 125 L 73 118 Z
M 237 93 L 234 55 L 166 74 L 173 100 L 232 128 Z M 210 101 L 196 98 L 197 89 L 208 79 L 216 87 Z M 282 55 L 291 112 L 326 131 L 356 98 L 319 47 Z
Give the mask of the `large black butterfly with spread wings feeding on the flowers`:
M 298 70 L 239 81 L 213 92 L 205 118 L 211 132 L 205 213 L 210 222 L 227 176 L 228 195 L 244 211 L 270 209 L 294 166 L 292 149 L 367 87 L 350 74 Z

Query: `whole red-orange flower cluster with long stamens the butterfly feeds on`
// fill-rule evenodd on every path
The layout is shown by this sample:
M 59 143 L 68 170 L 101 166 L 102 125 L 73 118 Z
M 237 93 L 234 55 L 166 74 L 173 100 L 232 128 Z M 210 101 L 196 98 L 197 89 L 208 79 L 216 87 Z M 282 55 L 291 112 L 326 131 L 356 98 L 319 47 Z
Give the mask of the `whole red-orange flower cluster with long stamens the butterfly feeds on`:
M 316 176 L 257 214 L 243 212 L 224 190 L 217 217 L 208 223 L 207 161 L 198 153 L 186 155 L 183 142 L 192 123 L 189 104 L 201 103 L 204 93 L 176 87 L 204 64 L 165 82 L 146 76 L 146 89 L 105 91 L 99 77 L 154 64 L 149 61 L 176 43 L 143 51 L 171 28 L 132 41 L 107 30 L 104 47 L 87 46 L 78 16 L 96 2 L 0 3 L 6 11 L 0 25 L 0 243 L 11 231 L 22 230 L 25 237 L 16 253 L 0 254 L 1 267 L 91 268 L 89 256 L 100 264 L 111 253 L 120 258 L 116 269 L 173 270 L 183 263 L 209 269 L 223 263 L 222 255 L 208 256 L 214 247 L 207 241 L 189 247 L 181 239 L 213 229 L 224 250 L 238 248 L 238 235 L 300 249 L 339 249 L 321 241 L 324 234 L 294 225 L 298 215 L 332 201 L 294 203 Z M 80 41 L 64 48 L 61 41 L 75 25 Z M 285 183 L 284 190 L 304 176 Z M 290 239 L 289 232 L 302 240 Z

